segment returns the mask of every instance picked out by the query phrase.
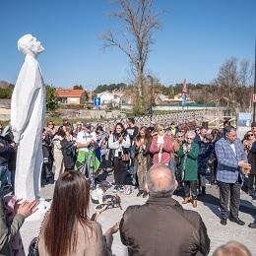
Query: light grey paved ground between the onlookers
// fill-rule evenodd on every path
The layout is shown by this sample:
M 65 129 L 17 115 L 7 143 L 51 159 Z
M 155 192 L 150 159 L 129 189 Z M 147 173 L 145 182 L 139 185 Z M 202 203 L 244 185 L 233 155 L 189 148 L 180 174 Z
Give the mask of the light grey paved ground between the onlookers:
M 200 213 L 205 224 L 208 228 L 208 233 L 211 238 L 211 253 L 221 244 L 229 240 L 236 240 L 245 244 L 252 252 L 252 255 L 256 255 L 256 229 L 249 228 L 247 224 L 251 223 L 256 216 L 256 203 L 250 201 L 250 197 L 244 192 L 241 193 L 241 207 L 240 207 L 240 219 L 246 222 L 246 225 L 240 226 L 233 223 L 227 223 L 223 226 L 220 224 L 220 211 L 219 211 L 219 191 L 216 186 L 208 186 L 208 195 L 204 200 L 199 202 L 198 208 L 195 210 Z M 110 194 L 110 190 L 109 194 Z M 108 192 L 107 191 L 107 192 Z M 45 199 L 51 199 L 53 192 L 53 186 L 48 185 L 42 189 L 41 195 Z M 123 211 L 129 206 L 134 204 L 143 204 L 147 199 L 137 198 L 137 191 L 134 191 L 131 195 L 120 194 L 122 200 Z M 173 196 L 174 199 L 181 202 L 180 196 Z M 186 209 L 193 209 L 191 205 L 186 205 Z M 91 204 L 91 213 L 94 211 L 94 204 Z M 194 209 L 193 209 L 194 210 Z M 120 209 L 106 210 L 98 219 L 98 222 L 102 225 L 103 231 L 107 229 L 111 224 L 118 222 L 122 216 L 123 211 Z M 25 249 L 28 250 L 28 246 L 32 238 L 37 234 L 40 221 L 26 222 L 21 230 L 24 240 Z M 173 230 L 173 234 L 174 234 Z M 176 232 L 175 232 L 176 234 Z M 143 235 L 143 234 L 142 234 Z M 125 256 L 126 248 L 122 245 L 119 238 L 119 233 L 114 234 L 114 242 L 112 245 L 112 251 L 116 256 Z

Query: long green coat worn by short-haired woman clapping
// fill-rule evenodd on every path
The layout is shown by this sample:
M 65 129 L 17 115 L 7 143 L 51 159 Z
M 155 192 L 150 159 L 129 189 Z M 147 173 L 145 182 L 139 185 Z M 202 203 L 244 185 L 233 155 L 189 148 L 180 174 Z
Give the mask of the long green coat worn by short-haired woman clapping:
M 197 180 L 198 166 L 197 157 L 199 154 L 199 146 L 197 143 L 193 142 L 190 151 L 187 153 L 187 157 L 183 152 L 183 147 L 181 146 L 178 151 L 178 158 L 180 159 L 179 170 L 182 171 L 185 163 L 185 181 Z

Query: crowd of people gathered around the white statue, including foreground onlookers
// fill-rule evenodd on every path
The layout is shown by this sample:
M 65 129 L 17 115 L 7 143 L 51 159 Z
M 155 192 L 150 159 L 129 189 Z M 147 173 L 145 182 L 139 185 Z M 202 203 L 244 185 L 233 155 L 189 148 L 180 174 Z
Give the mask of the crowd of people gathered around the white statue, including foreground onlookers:
M 0 134 L 0 185 L 4 194 L 15 185 L 16 145 L 10 126 L 0 126 Z M 245 224 L 238 217 L 242 185 L 256 202 L 255 122 L 240 141 L 228 121 L 220 129 L 208 129 L 173 122 L 164 125 L 151 122 L 149 126 L 138 127 L 134 118 L 106 127 L 100 124 L 94 127 L 88 122 L 71 124 L 63 119 L 61 126 L 56 128 L 49 121 L 43 129 L 42 151 L 41 185 L 55 183 L 55 190 L 40 232 L 39 255 L 111 255 L 111 234 L 118 229 L 129 255 L 207 255 L 210 239 L 200 215 L 184 210 L 171 198 L 172 194 L 182 191 L 182 204 L 191 203 L 197 208 L 198 197 L 208 193 L 207 183 L 218 185 L 223 225 L 227 220 Z M 120 224 L 114 224 L 102 235 L 101 227 L 89 219 L 88 207 L 90 193 L 92 196 L 102 177 L 111 172 L 113 193 L 131 194 L 135 189 L 137 197 L 149 199 L 146 205 L 129 207 Z M 36 202 L 16 206 L 21 219 L 16 230 L 35 207 Z M 165 216 L 163 219 L 169 222 L 161 222 L 158 216 Z M 169 233 L 163 239 L 156 234 L 173 230 L 177 224 L 186 226 L 180 237 Z M 249 226 L 256 228 L 256 223 Z M 155 235 L 141 236 L 146 229 Z M 158 235 L 160 240 L 156 238 Z M 59 246 L 55 239 L 62 241 Z M 84 247 L 81 241 L 86 241 Z M 89 243 L 92 246 L 87 246 Z M 1 235 L 0 251 L 7 251 L 1 249 Z M 215 255 L 229 255 L 220 251 L 221 248 Z

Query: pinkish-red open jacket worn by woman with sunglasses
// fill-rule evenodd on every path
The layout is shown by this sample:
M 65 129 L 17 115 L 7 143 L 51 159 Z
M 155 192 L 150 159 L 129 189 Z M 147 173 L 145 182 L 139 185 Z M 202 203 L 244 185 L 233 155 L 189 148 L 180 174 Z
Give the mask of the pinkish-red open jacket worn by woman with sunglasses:
M 168 163 L 170 160 L 170 152 L 172 151 L 172 142 L 170 135 L 164 134 L 163 141 L 164 144 L 162 148 L 160 162 Z M 153 154 L 153 163 L 159 163 L 160 149 L 158 149 L 158 135 L 155 135 L 152 139 L 150 152 Z

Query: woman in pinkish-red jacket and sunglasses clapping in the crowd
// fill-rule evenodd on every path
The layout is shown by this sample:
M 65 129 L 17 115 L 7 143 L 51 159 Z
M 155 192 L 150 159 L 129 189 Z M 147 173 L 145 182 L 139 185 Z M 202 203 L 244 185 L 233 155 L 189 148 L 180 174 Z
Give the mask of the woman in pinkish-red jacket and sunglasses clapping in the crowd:
M 153 164 L 160 162 L 167 165 L 172 151 L 171 137 L 164 132 L 162 125 L 157 125 L 156 130 L 158 134 L 153 137 L 150 148 L 150 152 L 153 154 Z

